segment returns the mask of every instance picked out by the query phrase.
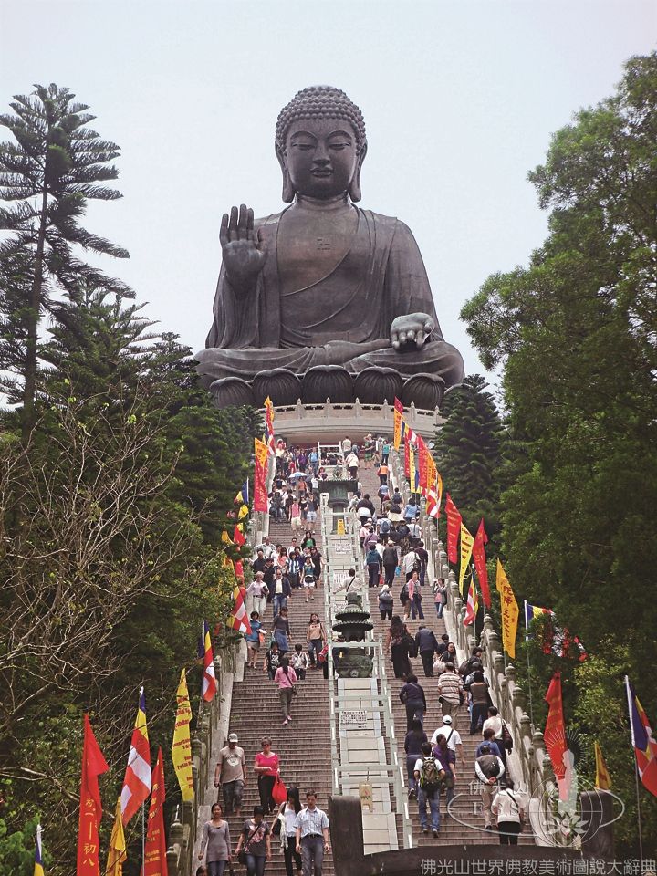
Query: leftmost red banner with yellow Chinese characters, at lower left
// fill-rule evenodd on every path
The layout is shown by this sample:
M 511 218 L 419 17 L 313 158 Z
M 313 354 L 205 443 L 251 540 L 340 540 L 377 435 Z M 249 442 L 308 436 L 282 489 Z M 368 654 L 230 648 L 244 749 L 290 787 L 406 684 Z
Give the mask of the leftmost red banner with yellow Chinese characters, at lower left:
M 84 716 L 80 810 L 78 821 L 78 876 L 99 876 L 99 824 L 102 802 L 98 779 L 110 767 L 93 735 L 89 715 Z

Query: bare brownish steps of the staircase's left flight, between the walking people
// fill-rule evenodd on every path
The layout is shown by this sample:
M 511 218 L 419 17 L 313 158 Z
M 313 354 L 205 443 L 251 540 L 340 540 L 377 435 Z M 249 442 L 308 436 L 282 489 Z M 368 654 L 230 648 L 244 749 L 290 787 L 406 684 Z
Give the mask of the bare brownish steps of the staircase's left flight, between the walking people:
M 280 543 L 289 547 L 292 531 L 287 523 L 271 521 L 269 537 L 272 544 Z M 318 527 L 315 537 L 320 547 Z M 324 597 L 321 586 L 315 592 L 315 600 L 311 600 L 308 605 L 303 589 L 293 590 L 291 599 L 287 600 L 287 607 L 292 632 L 290 645 L 294 647 L 300 642 L 306 650 L 306 628 L 310 612 L 316 611 L 324 620 Z M 267 603 L 263 619 L 267 632 L 266 640 L 271 630 L 271 623 L 272 606 L 271 603 Z M 299 695 L 292 703 L 292 723 L 283 726 L 276 684 L 269 681 L 266 672 L 261 668 L 263 655 L 264 650 L 261 649 L 256 662 L 257 668 L 253 670 L 246 667 L 244 681 L 235 683 L 233 687 L 230 732 L 239 736 L 239 745 L 245 750 L 247 767 L 247 784 L 242 806 L 243 818 L 236 818 L 234 815 L 228 818 L 234 850 L 245 819 L 251 815 L 253 807 L 260 802 L 253 764 L 256 753 L 260 751 L 260 740 L 264 736 L 272 740 L 272 750 L 280 758 L 281 778 L 287 787 L 299 788 L 302 803 L 305 802 L 306 789 L 314 787 L 318 792 L 318 807 L 326 811 L 331 788 L 327 682 L 321 669 L 309 669 L 305 681 L 298 683 Z M 214 771 L 215 752 L 213 758 Z M 268 820 L 270 824 L 273 823 L 272 816 L 269 816 Z M 234 867 L 235 872 L 244 872 L 236 861 Z M 323 872 L 326 876 L 333 876 L 331 852 L 325 856 Z M 267 876 L 285 874 L 283 853 L 276 837 L 272 838 L 272 860 L 266 864 L 266 873 Z

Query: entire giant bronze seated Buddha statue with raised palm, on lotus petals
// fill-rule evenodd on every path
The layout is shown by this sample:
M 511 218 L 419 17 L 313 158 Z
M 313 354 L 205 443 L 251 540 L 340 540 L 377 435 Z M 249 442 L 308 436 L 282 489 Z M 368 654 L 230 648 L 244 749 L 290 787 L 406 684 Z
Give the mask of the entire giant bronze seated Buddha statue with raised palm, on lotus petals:
M 433 409 L 463 381 L 411 231 L 356 206 L 366 154 L 362 114 L 339 89 L 303 89 L 278 116 L 289 206 L 222 219 L 214 323 L 196 355 L 219 407 L 398 396 Z

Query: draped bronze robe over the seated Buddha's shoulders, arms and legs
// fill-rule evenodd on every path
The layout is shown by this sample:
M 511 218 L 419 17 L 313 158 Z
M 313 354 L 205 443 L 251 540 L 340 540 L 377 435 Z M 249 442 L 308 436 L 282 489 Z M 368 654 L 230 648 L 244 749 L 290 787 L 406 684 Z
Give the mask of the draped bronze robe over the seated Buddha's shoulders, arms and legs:
M 222 266 L 213 327 L 206 349 L 196 354 L 203 382 L 250 381 L 272 368 L 303 375 L 327 364 L 354 374 L 371 365 L 403 377 L 430 372 L 448 387 L 463 381 L 463 359 L 443 340 L 422 255 L 405 224 L 358 208 L 347 254 L 318 282 L 284 293 L 277 263 L 281 215 L 256 221 L 266 261 L 253 290 L 236 295 Z M 435 328 L 421 349 L 398 352 L 391 347 L 391 322 L 415 312 L 433 317 Z

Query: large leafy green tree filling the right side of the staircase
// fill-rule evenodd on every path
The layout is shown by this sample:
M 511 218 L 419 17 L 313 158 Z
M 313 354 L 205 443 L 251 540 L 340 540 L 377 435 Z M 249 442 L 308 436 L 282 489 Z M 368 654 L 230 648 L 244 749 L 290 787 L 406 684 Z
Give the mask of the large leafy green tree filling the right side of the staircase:
M 509 578 L 597 655 L 568 681 L 567 721 L 589 766 L 600 739 L 628 806 L 619 851 L 633 854 L 623 673 L 657 721 L 656 156 L 653 53 L 631 58 L 617 93 L 554 135 L 529 174 L 551 210 L 545 244 L 527 267 L 490 276 L 462 313 L 485 365 L 503 366 L 519 448 L 500 504 Z M 641 796 L 654 838 L 657 801 Z

